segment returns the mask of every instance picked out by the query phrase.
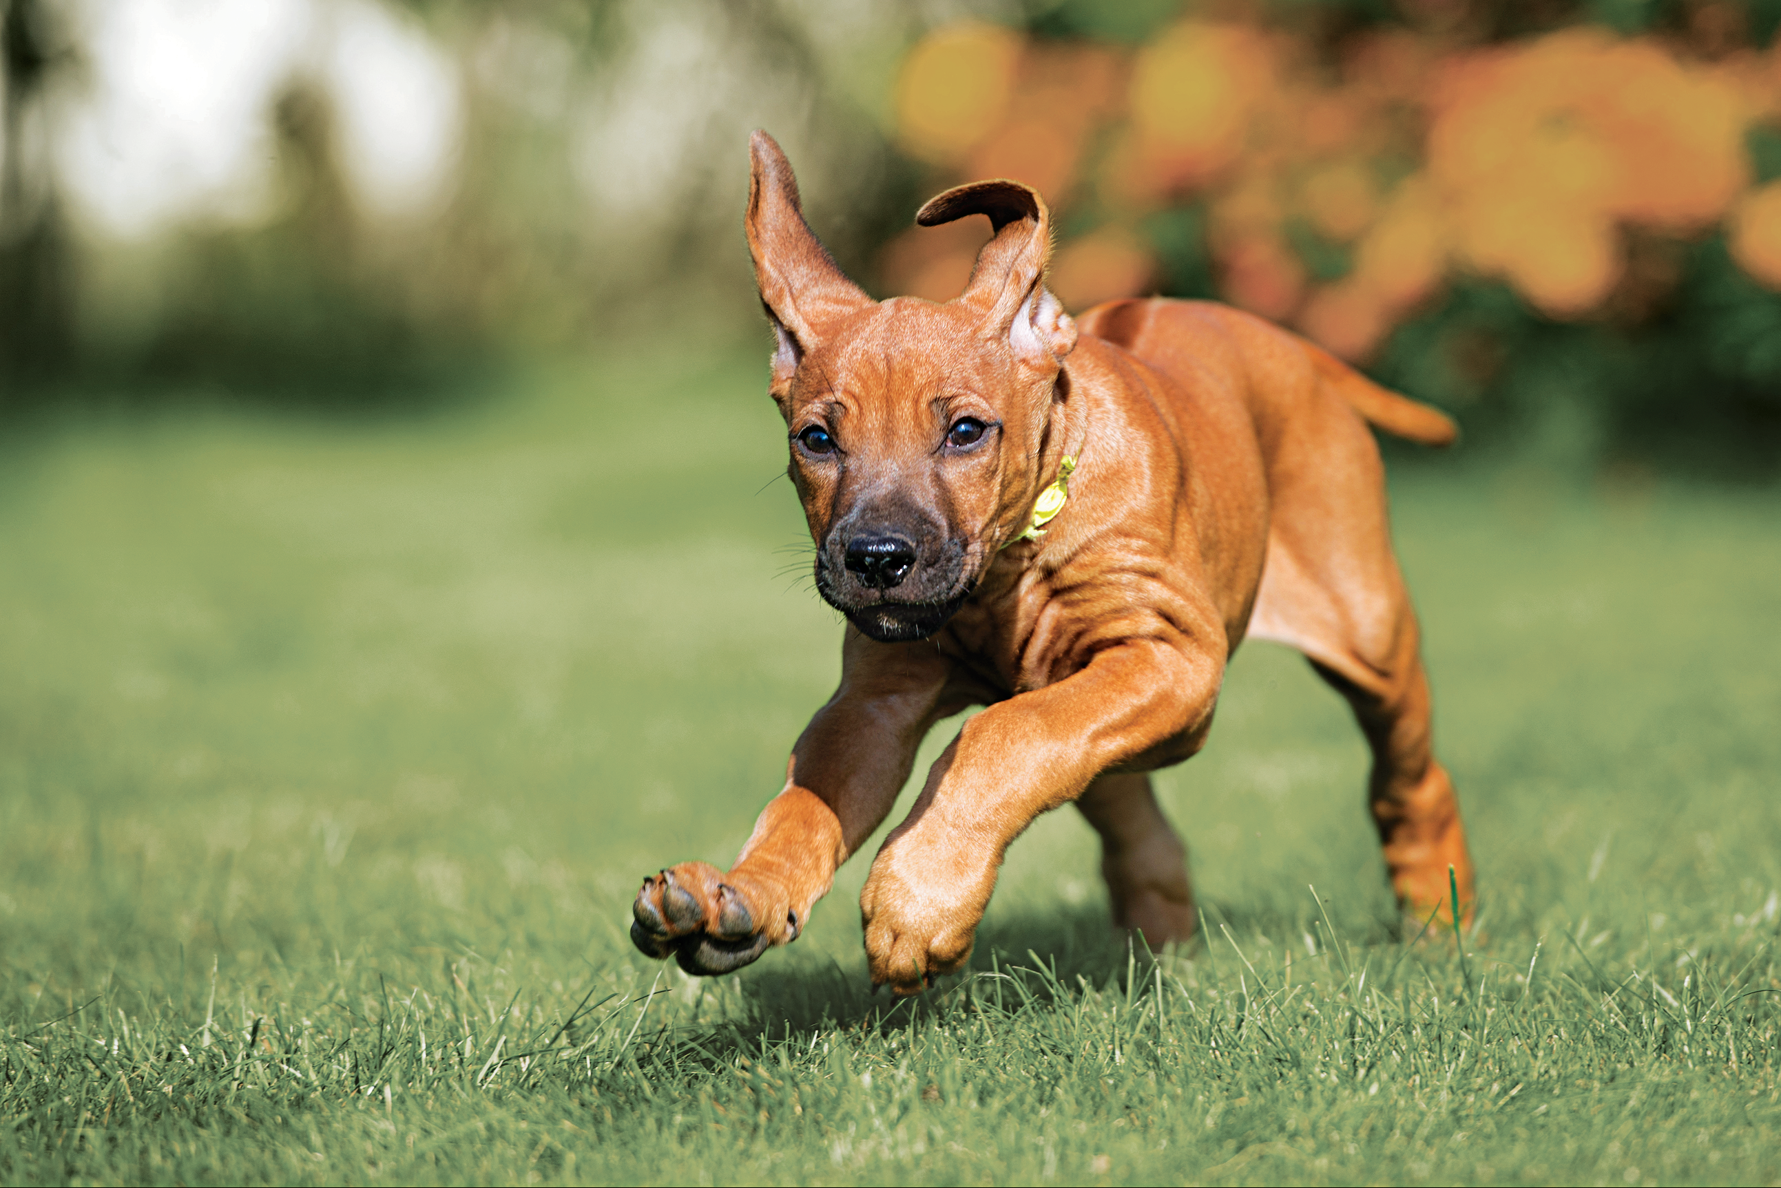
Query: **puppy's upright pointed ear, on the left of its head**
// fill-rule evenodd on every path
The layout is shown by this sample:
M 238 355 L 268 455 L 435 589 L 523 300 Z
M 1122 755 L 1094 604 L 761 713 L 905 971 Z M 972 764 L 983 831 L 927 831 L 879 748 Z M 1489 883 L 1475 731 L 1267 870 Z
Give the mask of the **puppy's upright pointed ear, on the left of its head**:
M 784 395 L 798 360 L 828 326 L 873 303 L 835 265 L 810 233 L 798 201 L 798 178 L 785 153 L 766 132 L 748 137 L 748 253 L 755 258 L 760 305 L 773 319 L 773 394 Z

